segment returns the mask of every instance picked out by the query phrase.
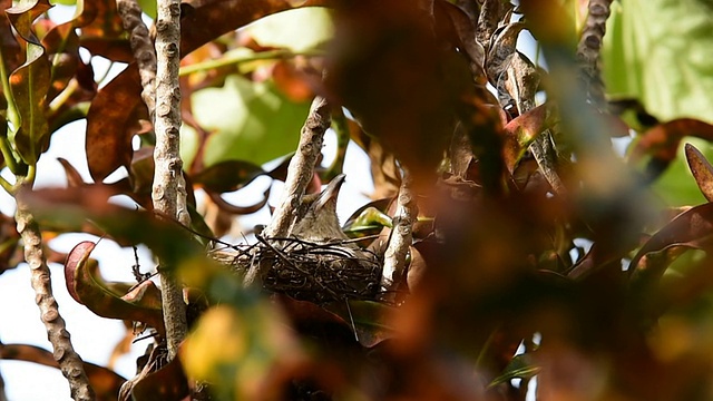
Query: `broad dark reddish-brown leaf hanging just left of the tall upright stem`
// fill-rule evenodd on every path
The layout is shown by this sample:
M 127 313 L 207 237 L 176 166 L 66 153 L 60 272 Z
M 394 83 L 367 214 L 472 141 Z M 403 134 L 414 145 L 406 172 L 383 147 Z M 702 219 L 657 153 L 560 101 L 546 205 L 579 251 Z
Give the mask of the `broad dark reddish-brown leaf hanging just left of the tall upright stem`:
M 141 84 L 135 63 L 104 87 L 87 113 L 87 163 L 95 182 L 124 166 L 130 168 L 131 138 L 143 129 L 148 110 L 140 97 Z

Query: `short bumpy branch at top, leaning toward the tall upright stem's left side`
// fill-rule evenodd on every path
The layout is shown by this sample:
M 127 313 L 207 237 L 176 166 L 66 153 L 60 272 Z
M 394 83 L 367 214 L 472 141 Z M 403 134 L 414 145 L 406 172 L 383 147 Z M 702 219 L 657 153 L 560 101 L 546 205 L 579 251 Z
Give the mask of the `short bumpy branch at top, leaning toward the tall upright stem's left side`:
M 148 107 L 152 121 L 156 113 L 156 52 L 148 36 L 148 28 L 141 20 L 141 8 L 136 0 L 116 0 L 116 8 L 121 17 L 124 29 L 129 32 L 131 51 L 141 77 L 141 98 Z

